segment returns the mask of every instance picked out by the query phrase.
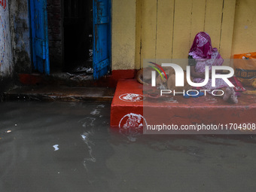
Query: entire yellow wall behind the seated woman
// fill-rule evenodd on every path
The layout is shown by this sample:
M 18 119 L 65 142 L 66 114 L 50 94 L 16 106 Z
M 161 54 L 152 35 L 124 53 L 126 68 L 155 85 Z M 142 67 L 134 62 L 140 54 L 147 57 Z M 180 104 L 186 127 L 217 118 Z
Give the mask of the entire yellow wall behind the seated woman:
M 112 69 L 186 59 L 200 31 L 224 59 L 256 51 L 255 10 L 256 0 L 112 0 Z

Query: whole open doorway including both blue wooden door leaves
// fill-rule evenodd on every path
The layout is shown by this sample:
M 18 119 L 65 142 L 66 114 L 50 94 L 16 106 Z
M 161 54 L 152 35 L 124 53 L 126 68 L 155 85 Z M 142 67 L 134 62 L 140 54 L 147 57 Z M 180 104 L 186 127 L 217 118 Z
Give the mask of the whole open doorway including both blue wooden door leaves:
M 30 11 L 35 72 L 111 71 L 111 0 L 31 0 Z

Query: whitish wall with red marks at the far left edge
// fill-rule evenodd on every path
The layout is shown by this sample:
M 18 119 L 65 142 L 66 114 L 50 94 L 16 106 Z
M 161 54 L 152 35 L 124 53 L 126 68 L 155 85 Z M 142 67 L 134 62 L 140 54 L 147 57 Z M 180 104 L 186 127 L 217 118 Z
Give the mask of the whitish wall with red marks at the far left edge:
M 8 81 L 11 81 L 14 66 L 11 51 L 11 32 L 8 0 L 0 5 L 0 94 Z

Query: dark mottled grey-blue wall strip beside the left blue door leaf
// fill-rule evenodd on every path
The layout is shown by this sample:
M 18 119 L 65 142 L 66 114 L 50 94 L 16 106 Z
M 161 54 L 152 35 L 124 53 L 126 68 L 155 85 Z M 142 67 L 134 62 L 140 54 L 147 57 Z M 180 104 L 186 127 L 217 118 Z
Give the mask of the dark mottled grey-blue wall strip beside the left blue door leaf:
M 8 0 L 10 6 L 11 44 L 15 72 L 32 72 L 27 0 Z

